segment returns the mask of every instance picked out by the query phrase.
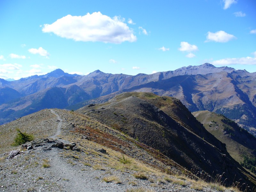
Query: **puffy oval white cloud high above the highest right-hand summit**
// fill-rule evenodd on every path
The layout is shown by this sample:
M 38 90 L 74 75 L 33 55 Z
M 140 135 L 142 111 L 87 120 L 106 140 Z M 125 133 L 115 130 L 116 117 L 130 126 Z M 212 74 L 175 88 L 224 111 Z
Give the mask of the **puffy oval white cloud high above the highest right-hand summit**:
M 226 33 L 225 31 L 217 31 L 215 33 L 208 31 L 206 40 L 204 42 L 215 41 L 219 43 L 226 43 L 232 39 L 236 39 L 236 37 Z

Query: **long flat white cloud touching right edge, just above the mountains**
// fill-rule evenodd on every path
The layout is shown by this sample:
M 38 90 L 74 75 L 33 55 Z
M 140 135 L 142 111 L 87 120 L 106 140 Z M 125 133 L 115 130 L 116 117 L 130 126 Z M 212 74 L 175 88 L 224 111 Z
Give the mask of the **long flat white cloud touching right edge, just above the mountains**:
M 226 58 L 212 61 L 213 65 L 256 65 L 256 57 Z

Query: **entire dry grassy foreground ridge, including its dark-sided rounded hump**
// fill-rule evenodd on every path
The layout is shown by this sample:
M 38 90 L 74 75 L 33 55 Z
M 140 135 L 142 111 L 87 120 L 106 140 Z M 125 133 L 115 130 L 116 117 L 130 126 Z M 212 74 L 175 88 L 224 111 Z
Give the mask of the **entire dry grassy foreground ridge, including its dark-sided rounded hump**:
M 7 159 L 5 157 L 8 153 L 5 150 L 15 149 L 10 145 L 15 138 L 17 126 L 22 132 L 33 134 L 36 139 L 24 145 L 30 147 L 17 158 Z M 13 183 L 20 182 L 20 174 L 36 180 L 42 172 L 45 173 L 42 180 L 49 180 L 47 170 L 52 171 L 52 178 L 59 178 L 59 171 L 54 169 L 56 164 L 63 166 L 58 167 L 60 172 L 65 171 L 64 168 L 78 167 L 75 170 L 82 178 L 91 173 L 90 167 L 96 169 L 99 165 L 98 169 L 104 176 L 116 175 L 116 170 L 122 170 L 124 173 L 119 179 L 123 183 L 121 186 L 125 187 L 134 180 L 135 173 L 143 173 L 148 178 L 143 181 L 147 183 L 147 188 L 153 187 L 156 191 L 172 191 L 169 187 L 174 181 L 168 179 L 171 175 L 176 175 L 182 180 L 182 183 L 177 184 L 183 186 L 180 188 L 181 191 L 209 191 L 206 187 L 195 190 L 190 187 L 193 185 L 190 183 L 195 182 L 190 178 L 202 183 L 204 179 L 200 173 L 211 178 L 204 180 L 212 185 L 211 191 L 220 190 L 221 184 L 232 186 L 234 178 L 246 183 L 244 189 L 246 186 L 252 188 L 256 183 L 256 177 L 230 156 L 224 143 L 207 132 L 180 100 L 168 96 L 157 96 L 147 92 L 124 92 L 108 102 L 87 105 L 77 111 L 44 109 L 0 125 L 0 129 L 1 137 L 4 139 L 0 148 L 1 153 L 4 153 L 0 154 L 1 172 L 16 171 L 17 174 L 10 174 L 8 178 Z M 55 139 L 47 141 L 45 137 Z M 61 143 L 64 145 L 63 148 Z M 76 147 L 67 147 L 71 145 Z M 29 159 L 31 164 L 27 168 L 29 172 L 18 166 L 28 162 L 24 159 Z M 123 161 L 130 163 L 122 163 Z M 48 169 L 38 169 L 37 165 L 44 162 L 49 164 Z M 80 174 L 84 168 L 86 172 Z M 152 168 L 158 172 L 153 172 Z M 31 172 L 36 176 L 31 176 Z M 213 186 L 212 181 L 216 181 L 216 178 L 213 178 L 214 174 L 218 184 Z M 68 178 L 72 182 L 74 180 L 68 174 L 60 175 L 61 178 Z M 98 178 L 101 180 L 104 176 L 100 174 Z M 149 184 L 157 183 L 155 178 L 161 180 L 160 186 Z M 13 185 L 6 182 L 3 178 L 3 185 L 11 189 Z M 28 181 L 25 179 L 23 182 Z M 38 182 L 41 183 L 40 180 Z M 37 182 L 33 184 L 38 188 Z M 62 185 L 62 182 L 58 181 L 58 184 Z

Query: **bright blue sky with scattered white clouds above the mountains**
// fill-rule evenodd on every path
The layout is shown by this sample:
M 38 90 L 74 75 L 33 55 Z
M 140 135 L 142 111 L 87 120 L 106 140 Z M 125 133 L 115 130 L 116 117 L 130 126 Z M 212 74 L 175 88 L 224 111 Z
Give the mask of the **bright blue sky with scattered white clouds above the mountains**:
M 0 0 L 0 78 L 206 62 L 256 72 L 255 10 L 255 0 Z

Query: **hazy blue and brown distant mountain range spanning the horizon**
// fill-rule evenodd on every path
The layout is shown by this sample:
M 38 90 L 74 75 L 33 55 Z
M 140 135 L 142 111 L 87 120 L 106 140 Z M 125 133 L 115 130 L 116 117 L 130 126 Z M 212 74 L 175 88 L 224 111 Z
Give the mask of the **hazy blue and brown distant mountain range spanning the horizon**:
M 209 110 L 256 132 L 256 73 L 209 63 L 155 74 L 79 76 L 56 69 L 16 81 L 0 79 L 0 123 L 44 108 L 78 109 L 121 92 L 153 92 L 179 99 L 190 112 Z

